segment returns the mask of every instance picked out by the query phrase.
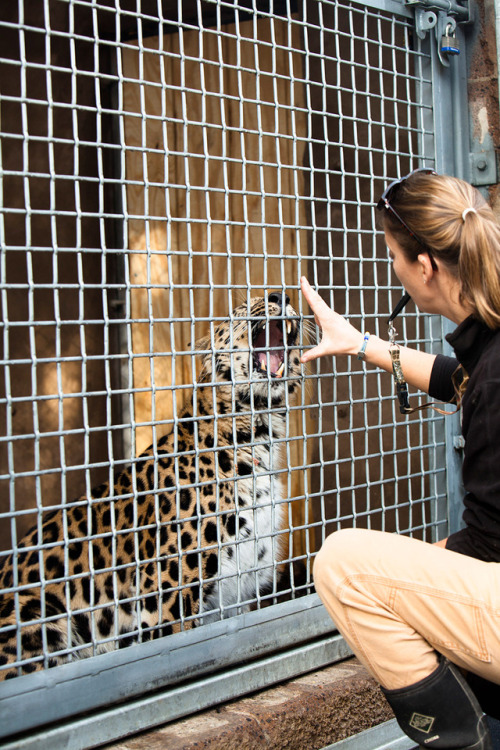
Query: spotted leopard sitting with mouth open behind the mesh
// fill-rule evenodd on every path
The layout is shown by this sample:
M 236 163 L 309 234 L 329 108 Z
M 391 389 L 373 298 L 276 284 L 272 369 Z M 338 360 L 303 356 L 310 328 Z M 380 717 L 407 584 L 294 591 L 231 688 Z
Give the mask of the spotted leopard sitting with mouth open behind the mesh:
M 284 291 L 218 318 L 170 431 L 40 512 L 0 569 L 0 679 L 210 625 L 276 590 L 299 333 Z

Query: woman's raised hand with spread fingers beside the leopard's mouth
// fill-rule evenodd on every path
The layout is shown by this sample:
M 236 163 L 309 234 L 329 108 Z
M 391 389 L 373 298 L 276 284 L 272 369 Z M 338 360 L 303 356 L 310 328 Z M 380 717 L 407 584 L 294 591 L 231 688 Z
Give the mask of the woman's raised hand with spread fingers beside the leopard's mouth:
M 301 362 L 335 354 L 356 354 L 363 343 L 363 334 L 345 318 L 332 310 L 311 287 L 305 276 L 300 280 L 302 293 L 314 313 L 316 323 L 323 333 L 320 343 L 304 352 Z

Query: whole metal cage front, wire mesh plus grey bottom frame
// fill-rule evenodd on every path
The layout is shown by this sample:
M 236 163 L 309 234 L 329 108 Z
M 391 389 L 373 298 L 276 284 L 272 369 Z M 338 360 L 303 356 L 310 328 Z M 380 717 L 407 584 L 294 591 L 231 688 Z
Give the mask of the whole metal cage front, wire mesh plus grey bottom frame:
M 334 529 L 429 541 L 448 532 L 455 426 L 430 413 L 401 417 L 391 379 L 357 361 L 302 368 L 293 396 L 265 409 L 281 414 L 283 434 L 254 432 L 248 442 L 252 455 L 263 442 L 281 452 L 252 467 L 252 512 L 263 477 L 262 502 L 281 520 L 256 532 L 249 569 L 236 564 L 229 605 L 219 597 L 205 618 L 181 606 L 168 635 L 161 618 L 120 632 L 120 607 L 137 611 L 142 601 L 137 590 L 125 603 L 117 595 L 122 573 L 150 565 L 148 596 L 158 600 L 161 571 L 170 570 L 168 591 L 182 593 L 175 571 L 205 552 L 199 531 L 190 545 L 182 541 L 183 488 L 196 498 L 193 527 L 212 524 L 210 581 L 224 581 L 220 498 L 239 477 L 205 473 L 209 452 L 216 469 L 223 460 L 228 417 L 219 411 L 220 383 L 200 380 L 200 358 L 215 362 L 220 349 L 220 325 L 229 321 L 234 365 L 232 311 L 246 304 L 251 326 L 250 300 L 263 297 L 264 318 L 277 318 L 286 338 L 286 315 L 270 312 L 269 300 L 289 295 L 296 346 L 312 346 L 318 333 L 299 294 L 305 274 L 356 325 L 386 335 L 401 289 L 374 205 L 387 181 L 414 167 L 457 171 L 444 122 L 463 102 L 452 106 L 443 91 L 464 73 L 445 69 L 429 37 L 415 33 L 413 10 L 391 0 L 18 0 L 4 4 L 0 27 L 0 560 L 12 569 L 0 596 L 5 607 L 13 602 L 0 640 L 13 637 L 16 652 L 0 671 L 18 673 L 0 686 L 0 729 L 4 737 L 25 733 L 16 747 L 83 747 L 345 657 L 312 589 L 315 553 Z M 414 309 L 398 329 L 402 341 L 442 349 L 440 324 Z M 254 348 L 243 351 L 251 358 Z M 269 338 L 262 348 L 272 369 Z M 247 385 L 252 391 L 251 373 Z M 235 418 L 234 378 L 228 387 Z M 202 391 L 208 415 L 193 411 Z M 244 407 L 253 424 L 261 409 L 252 397 Z M 196 437 L 207 419 L 210 451 Z M 157 446 L 168 435 L 178 529 L 177 546 L 165 553 Z M 150 444 L 146 493 L 141 454 Z M 113 511 L 117 490 L 92 489 L 116 487 L 126 467 L 124 530 Z M 217 499 L 210 509 L 206 487 Z M 145 494 L 152 502 L 143 517 Z M 87 523 L 88 565 L 75 572 L 75 509 L 90 518 L 105 512 L 105 501 L 108 525 Z M 50 538 L 44 529 L 54 517 L 61 530 Z M 126 558 L 118 551 L 125 532 Z M 149 532 L 144 560 L 137 540 Z M 262 540 L 273 551 L 270 586 L 257 584 L 248 597 L 244 577 L 264 575 Z M 114 593 L 103 634 L 96 623 L 105 542 Z M 236 538 L 236 552 L 243 543 Z M 25 580 L 30 560 L 37 573 Z M 67 663 L 57 666 L 48 636 L 61 618 L 50 608 L 52 568 L 69 634 L 57 651 Z M 72 588 L 83 579 L 92 593 L 75 603 Z M 39 600 L 29 616 L 27 592 Z M 89 630 L 75 643 L 82 615 Z M 36 656 L 23 651 L 26 628 L 39 628 Z M 29 713 L 20 700 L 27 694 Z M 85 745 L 71 724 L 56 724 L 62 719 L 82 722 Z

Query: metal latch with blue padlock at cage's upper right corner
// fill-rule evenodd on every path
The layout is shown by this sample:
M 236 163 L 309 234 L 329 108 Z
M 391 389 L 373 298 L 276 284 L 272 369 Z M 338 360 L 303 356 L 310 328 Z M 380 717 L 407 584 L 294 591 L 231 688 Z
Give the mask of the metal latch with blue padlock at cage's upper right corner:
M 420 39 L 434 29 L 438 57 L 448 67 L 449 58 L 460 54 L 455 36 L 457 24 L 472 23 L 471 0 L 464 3 L 455 0 L 404 0 L 405 5 L 415 8 L 415 30 Z

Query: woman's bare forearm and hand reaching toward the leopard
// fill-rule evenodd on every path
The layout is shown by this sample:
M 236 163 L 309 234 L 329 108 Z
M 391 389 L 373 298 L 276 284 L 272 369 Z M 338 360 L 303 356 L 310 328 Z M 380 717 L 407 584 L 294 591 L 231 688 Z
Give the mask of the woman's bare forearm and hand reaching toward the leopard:
M 320 343 L 304 352 L 301 361 L 309 362 L 325 355 L 355 356 L 363 344 L 364 333 L 358 331 L 345 318 L 328 307 L 305 277 L 302 277 L 300 283 L 302 293 L 323 334 Z M 401 367 L 406 381 L 425 393 L 429 391 L 429 381 L 435 359 L 435 354 L 408 349 L 405 346 L 400 347 Z M 381 367 L 386 372 L 392 372 L 389 343 L 378 336 L 370 336 L 365 350 L 365 361 Z

